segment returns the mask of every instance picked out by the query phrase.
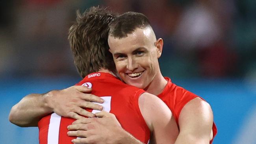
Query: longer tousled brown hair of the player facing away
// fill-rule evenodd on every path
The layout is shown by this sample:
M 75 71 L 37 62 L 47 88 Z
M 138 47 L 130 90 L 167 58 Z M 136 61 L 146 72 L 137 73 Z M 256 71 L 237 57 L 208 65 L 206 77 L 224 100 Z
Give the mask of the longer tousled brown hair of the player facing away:
M 68 39 L 82 78 L 100 68 L 116 71 L 113 56 L 108 51 L 109 23 L 115 17 L 116 14 L 100 7 L 91 7 L 83 14 L 76 11 L 76 22 L 69 29 Z

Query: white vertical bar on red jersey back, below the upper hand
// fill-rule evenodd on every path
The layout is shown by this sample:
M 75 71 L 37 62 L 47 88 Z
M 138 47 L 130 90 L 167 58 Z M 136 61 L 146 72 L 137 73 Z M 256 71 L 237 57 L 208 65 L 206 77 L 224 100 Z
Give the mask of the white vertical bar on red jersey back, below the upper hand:
M 48 129 L 47 144 L 59 144 L 59 125 L 61 116 L 56 113 L 51 114 L 50 124 Z

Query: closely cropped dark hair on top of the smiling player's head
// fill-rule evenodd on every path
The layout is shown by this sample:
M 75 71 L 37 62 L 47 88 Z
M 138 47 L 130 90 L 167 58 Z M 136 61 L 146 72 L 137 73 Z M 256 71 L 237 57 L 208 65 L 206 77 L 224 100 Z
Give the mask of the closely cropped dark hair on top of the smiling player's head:
M 148 26 L 150 26 L 150 22 L 145 15 L 129 11 L 118 16 L 111 22 L 109 36 L 121 39 L 127 37 L 127 34 L 134 32 L 136 28 L 143 29 Z

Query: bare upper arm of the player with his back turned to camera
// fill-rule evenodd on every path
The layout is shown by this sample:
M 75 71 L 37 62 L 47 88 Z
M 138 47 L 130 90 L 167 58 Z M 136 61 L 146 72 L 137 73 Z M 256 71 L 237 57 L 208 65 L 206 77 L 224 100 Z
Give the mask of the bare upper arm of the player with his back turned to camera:
M 150 143 L 174 144 L 179 131 L 167 105 L 157 96 L 143 93 L 139 97 L 139 108 L 151 131 Z

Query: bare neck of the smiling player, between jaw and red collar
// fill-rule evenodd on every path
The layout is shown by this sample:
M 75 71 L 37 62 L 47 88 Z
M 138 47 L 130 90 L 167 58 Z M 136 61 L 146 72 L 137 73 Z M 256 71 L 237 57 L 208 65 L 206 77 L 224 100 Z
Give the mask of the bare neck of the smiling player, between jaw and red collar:
M 160 70 L 154 77 L 154 79 L 151 81 L 151 83 L 144 89 L 148 91 L 150 94 L 158 95 L 163 92 L 163 89 L 167 85 L 167 80 L 163 78 Z

